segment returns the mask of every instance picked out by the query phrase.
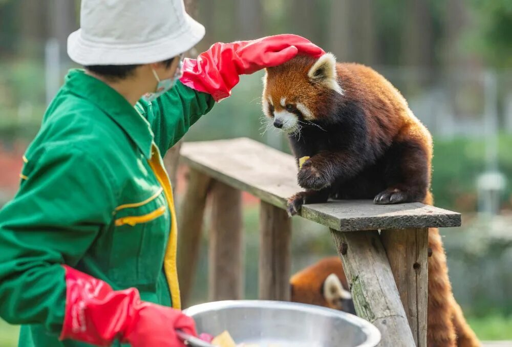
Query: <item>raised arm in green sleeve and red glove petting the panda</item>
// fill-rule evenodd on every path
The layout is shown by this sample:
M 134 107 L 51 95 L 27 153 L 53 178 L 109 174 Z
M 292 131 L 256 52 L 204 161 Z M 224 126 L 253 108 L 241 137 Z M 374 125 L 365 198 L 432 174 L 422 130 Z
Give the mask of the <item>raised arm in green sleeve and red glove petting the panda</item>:
M 297 35 L 275 35 L 229 44 L 217 42 L 197 59 L 186 58 L 176 86 L 137 110 L 150 122 L 160 153 L 178 142 L 215 101 L 231 95 L 240 75 L 282 64 L 297 54 L 319 57 L 325 52 Z

